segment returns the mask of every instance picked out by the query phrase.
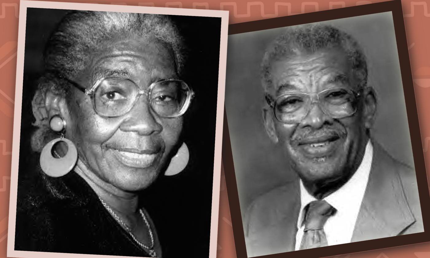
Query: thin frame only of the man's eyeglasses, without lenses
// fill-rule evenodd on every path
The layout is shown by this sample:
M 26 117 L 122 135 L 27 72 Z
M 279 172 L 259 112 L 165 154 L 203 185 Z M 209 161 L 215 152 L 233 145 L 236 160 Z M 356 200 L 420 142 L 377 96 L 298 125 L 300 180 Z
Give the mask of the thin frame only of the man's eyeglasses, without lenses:
M 307 92 L 289 92 L 289 93 L 287 93 L 287 94 L 280 95 L 280 96 L 276 97 L 276 99 L 274 99 L 274 100 L 273 100 L 272 96 L 271 96 L 269 93 L 267 93 L 267 92 L 266 92 L 266 93 L 264 94 L 264 99 L 266 100 L 267 104 L 272 108 L 273 115 L 275 116 L 276 120 L 278 120 L 278 121 L 279 121 L 279 122 L 281 122 L 281 123 L 285 123 L 285 124 L 295 124 L 295 123 L 301 123 L 301 121 L 303 121 L 303 120 L 304 120 L 304 118 L 305 118 L 305 117 L 307 117 L 307 116 L 309 115 L 309 112 L 310 112 L 310 110 L 311 110 L 311 109 L 309 109 L 309 111 L 307 112 L 307 114 L 306 114 L 306 115 L 304 115 L 304 117 L 303 117 L 300 121 L 298 121 L 298 122 L 295 122 L 295 123 L 287 123 L 287 122 L 281 121 L 281 120 L 279 120 L 279 118 L 276 116 L 276 110 L 275 110 L 275 104 L 276 104 L 276 101 L 277 101 L 279 98 L 281 98 L 281 97 L 283 97 L 283 96 L 286 96 L 286 95 L 290 95 L 290 94 L 297 94 L 297 93 L 298 93 L 298 94 L 304 94 L 304 95 L 308 95 L 308 96 L 310 96 L 311 101 L 310 101 L 310 104 L 309 104 L 309 105 L 310 105 L 310 106 L 312 106 L 312 104 L 314 104 L 314 103 L 320 103 L 319 95 L 320 95 L 322 92 L 327 92 L 327 91 L 329 91 L 329 90 L 333 90 L 333 89 L 344 89 L 344 90 L 346 90 L 346 91 L 353 92 L 353 95 L 354 95 L 354 97 L 356 98 L 355 100 L 356 100 L 356 101 L 358 101 L 358 100 L 359 100 L 359 98 L 361 98 L 361 97 L 362 97 L 361 92 L 362 92 L 362 91 L 364 91 L 364 89 L 365 89 L 365 88 L 369 88 L 369 87 L 361 87 L 361 88 L 360 88 L 360 89 L 358 89 L 358 90 L 345 89 L 345 88 L 342 88 L 342 87 L 338 87 L 338 88 L 330 88 L 330 89 L 324 89 L 324 90 L 322 90 L 322 91 L 318 92 L 317 94 L 312 94 L 312 95 L 316 95 L 316 100 L 314 100 L 314 99 L 311 97 L 311 94 L 310 94 L 310 93 L 307 93 Z M 321 106 L 320 106 L 319 108 L 322 110 L 322 112 L 323 112 L 324 114 L 327 114 L 326 112 L 324 112 L 324 111 L 325 111 L 325 109 L 324 109 L 324 108 L 322 108 Z M 331 117 L 333 117 L 333 118 L 336 118 L 336 119 L 341 119 L 341 118 L 345 118 L 345 117 L 351 117 L 351 116 L 353 116 L 356 112 L 357 112 L 357 108 L 354 110 L 354 112 L 353 112 L 352 114 L 349 114 L 349 115 L 344 116 L 344 117 L 333 117 L 333 116 L 332 116 L 332 114 L 327 114 L 327 115 L 329 115 L 329 116 L 331 116 Z

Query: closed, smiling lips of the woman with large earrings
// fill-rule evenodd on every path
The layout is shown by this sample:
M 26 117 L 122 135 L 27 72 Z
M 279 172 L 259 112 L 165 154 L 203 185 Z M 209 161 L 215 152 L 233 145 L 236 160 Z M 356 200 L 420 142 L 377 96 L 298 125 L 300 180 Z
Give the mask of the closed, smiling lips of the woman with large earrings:
M 117 150 L 112 149 L 115 157 L 126 166 L 134 168 L 147 168 L 154 164 L 159 156 L 156 151 Z

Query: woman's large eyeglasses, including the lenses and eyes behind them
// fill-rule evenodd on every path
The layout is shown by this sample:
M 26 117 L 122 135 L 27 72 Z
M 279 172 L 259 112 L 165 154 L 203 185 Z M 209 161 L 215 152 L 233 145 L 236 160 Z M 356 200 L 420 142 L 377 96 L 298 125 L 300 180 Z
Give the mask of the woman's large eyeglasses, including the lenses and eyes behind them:
M 128 113 L 140 95 L 146 95 L 152 110 L 160 117 L 180 117 L 187 111 L 194 92 L 184 81 L 160 80 L 147 89 L 139 89 L 132 80 L 101 78 L 90 89 L 68 80 L 92 100 L 95 112 L 102 117 L 120 117 Z

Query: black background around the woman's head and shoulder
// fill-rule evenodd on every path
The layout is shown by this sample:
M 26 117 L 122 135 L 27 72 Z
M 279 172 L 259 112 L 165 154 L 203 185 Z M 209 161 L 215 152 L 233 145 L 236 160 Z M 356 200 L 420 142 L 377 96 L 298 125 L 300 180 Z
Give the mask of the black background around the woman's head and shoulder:
M 22 96 L 19 173 L 38 166 L 31 151 L 34 131 L 31 100 L 44 71 L 43 50 L 51 31 L 70 10 L 27 9 L 24 85 Z M 163 257 L 207 257 L 212 208 L 212 180 L 218 92 L 221 18 L 172 15 L 187 46 L 181 77 L 196 93 L 187 111 L 184 140 L 190 150 L 187 168 L 178 175 L 161 175 L 142 191 L 141 205 L 155 223 Z

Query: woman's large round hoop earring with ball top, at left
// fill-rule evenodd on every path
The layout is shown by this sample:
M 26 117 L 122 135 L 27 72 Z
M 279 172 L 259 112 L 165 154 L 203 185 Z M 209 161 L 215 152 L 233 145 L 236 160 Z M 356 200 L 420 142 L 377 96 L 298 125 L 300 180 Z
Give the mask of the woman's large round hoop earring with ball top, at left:
M 49 121 L 49 126 L 53 131 L 61 132 L 61 137 L 49 141 L 48 144 L 43 147 L 40 153 L 40 167 L 46 175 L 60 177 L 66 175 L 74 168 L 78 158 L 78 152 L 75 144 L 69 139 L 64 138 L 66 121 L 62 117 L 58 115 L 53 116 Z M 63 141 L 67 144 L 67 153 L 64 157 L 60 157 L 58 154 L 56 155 L 57 157 L 53 157 L 52 154 L 56 152 L 52 150 L 52 147 L 59 141 Z

